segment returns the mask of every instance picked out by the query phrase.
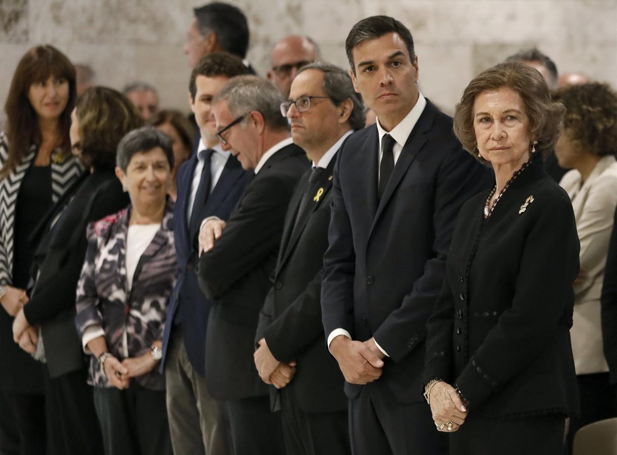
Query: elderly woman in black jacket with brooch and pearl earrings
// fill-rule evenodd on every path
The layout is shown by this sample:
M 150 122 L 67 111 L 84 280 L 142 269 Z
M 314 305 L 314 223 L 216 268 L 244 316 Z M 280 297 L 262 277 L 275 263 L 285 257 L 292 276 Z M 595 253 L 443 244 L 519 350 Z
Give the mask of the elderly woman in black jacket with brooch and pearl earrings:
M 579 241 L 568 195 L 541 155 L 564 108 L 536 70 L 475 78 L 454 118 L 495 187 L 462 207 L 428 321 L 424 395 L 451 454 L 560 454 L 578 411 L 569 328 Z

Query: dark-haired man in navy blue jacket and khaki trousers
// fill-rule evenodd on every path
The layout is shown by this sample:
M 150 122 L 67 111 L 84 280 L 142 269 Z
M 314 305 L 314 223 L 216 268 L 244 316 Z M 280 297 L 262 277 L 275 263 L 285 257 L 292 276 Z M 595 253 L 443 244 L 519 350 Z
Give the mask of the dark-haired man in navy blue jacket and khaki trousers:
M 161 371 L 175 453 L 228 454 L 222 404 L 205 385 L 205 331 L 212 302 L 199 289 L 195 272 L 197 234 L 210 215 L 228 219 L 251 179 L 238 160 L 222 150 L 210 110 L 212 98 L 233 76 L 246 74 L 238 57 L 222 52 L 202 58 L 191 74 L 189 102 L 201 140 L 178 170 L 174 235 L 178 281 L 168 305 Z

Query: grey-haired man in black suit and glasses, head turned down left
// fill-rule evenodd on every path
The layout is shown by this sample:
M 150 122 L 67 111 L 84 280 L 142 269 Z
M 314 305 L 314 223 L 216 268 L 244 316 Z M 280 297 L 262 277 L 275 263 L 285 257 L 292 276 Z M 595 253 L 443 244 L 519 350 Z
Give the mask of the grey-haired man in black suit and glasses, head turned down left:
M 234 78 L 213 100 L 223 149 L 238 156 L 255 177 L 227 223 L 207 219 L 199 234 L 204 251 L 199 284 L 215 299 L 205 342 L 209 392 L 225 400 L 233 451 L 283 454 L 280 413 L 270 413 L 268 389 L 253 362 L 255 330 L 283 232 L 285 212 L 300 176 L 309 166 L 292 143 L 276 87 L 256 76 Z M 281 365 L 276 374 L 290 377 Z

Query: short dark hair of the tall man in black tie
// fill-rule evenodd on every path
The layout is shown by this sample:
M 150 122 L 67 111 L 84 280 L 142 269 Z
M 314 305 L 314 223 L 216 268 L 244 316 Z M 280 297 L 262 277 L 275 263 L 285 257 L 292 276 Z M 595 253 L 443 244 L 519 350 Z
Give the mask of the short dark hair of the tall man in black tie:
M 360 42 L 366 39 L 376 39 L 384 36 L 387 33 L 396 33 L 405 42 L 407 50 L 409 52 L 409 58 L 413 62 L 416 54 L 413 50 L 413 38 L 412 33 L 402 23 L 397 21 L 393 17 L 389 16 L 371 16 L 362 19 L 356 25 L 354 25 L 347 35 L 345 40 L 345 51 L 347 52 L 347 60 L 349 60 L 349 66 L 355 74 L 354 56 L 352 50 L 358 46 Z

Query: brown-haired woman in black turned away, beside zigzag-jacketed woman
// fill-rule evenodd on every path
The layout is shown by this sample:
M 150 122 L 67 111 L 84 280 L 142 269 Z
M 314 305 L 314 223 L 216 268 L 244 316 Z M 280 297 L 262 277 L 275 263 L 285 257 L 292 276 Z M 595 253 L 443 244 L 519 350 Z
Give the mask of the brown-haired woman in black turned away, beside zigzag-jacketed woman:
M 93 87 L 71 115 L 73 154 L 86 171 L 33 234 L 38 268 L 30 301 L 15 316 L 13 337 L 39 326 L 36 357 L 46 362 L 46 413 L 52 454 L 102 453 L 101 432 L 75 329 L 75 289 L 86 254 L 86 225 L 126 207 L 114 175 L 115 151 L 127 132 L 143 124 L 132 103 L 115 90 Z

